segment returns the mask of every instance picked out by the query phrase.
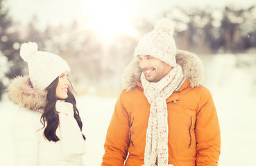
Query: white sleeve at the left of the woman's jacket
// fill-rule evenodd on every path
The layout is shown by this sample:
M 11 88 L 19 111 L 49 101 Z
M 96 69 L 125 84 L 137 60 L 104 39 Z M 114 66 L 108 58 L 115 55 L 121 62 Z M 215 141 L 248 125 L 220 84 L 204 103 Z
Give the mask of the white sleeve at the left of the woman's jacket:
M 15 150 L 15 166 L 37 165 L 37 129 L 40 114 L 22 109 L 15 118 L 12 136 Z

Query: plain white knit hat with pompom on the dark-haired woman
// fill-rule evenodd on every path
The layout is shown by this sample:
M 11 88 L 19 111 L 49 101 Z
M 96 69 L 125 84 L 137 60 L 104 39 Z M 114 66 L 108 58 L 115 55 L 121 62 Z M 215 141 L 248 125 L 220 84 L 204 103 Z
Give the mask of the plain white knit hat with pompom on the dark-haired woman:
M 37 50 L 34 42 L 22 44 L 20 56 L 28 63 L 31 83 L 36 89 L 44 90 L 61 73 L 70 72 L 69 65 L 60 56 Z

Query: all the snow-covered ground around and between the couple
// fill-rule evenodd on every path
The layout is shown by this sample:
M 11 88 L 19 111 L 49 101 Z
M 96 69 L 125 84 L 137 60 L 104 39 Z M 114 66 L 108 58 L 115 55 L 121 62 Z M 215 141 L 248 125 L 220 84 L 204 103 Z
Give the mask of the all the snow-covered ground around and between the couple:
M 205 86 L 212 92 L 221 125 L 219 165 L 256 165 L 256 59 L 247 57 L 240 56 L 239 64 L 234 55 L 202 58 L 207 70 Z M 96 95 L 77 98 L 87 136 L 85 165 L 101 165 L 105 133 L 116 100 Z M 10 125 L 15 108 L 8 100 L 0 102 L 1 165 L 13 165 Z

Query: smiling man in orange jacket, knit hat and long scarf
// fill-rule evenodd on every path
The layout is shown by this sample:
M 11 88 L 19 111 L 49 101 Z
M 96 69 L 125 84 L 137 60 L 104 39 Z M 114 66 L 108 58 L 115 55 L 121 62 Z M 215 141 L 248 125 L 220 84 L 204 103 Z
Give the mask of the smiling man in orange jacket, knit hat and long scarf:
M 123 72 L 102 166 L 218 165 L 219 120 L 210 91 L 199 84 L 203 64 L 176 50 L 173 31 L 169 19 L 160 19 L 135 48 Z

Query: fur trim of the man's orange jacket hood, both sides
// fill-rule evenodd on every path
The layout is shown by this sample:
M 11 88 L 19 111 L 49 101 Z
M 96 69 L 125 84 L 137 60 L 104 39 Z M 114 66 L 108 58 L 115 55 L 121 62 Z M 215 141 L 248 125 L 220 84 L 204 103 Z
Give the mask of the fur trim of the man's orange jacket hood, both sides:
M 183 74 L 189 79 L 190 86 L 196 87 L 205 80 L 205 68 L 200 58 L 186 50 L 177 50 L 176 62 L 182 67 Z M 134 58 L 125 68 L 122 75 L 122 88 L 130 91 L 137 86 L 142 69 L 139 61 Z

